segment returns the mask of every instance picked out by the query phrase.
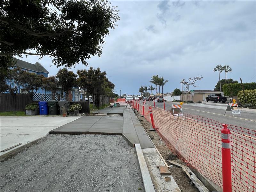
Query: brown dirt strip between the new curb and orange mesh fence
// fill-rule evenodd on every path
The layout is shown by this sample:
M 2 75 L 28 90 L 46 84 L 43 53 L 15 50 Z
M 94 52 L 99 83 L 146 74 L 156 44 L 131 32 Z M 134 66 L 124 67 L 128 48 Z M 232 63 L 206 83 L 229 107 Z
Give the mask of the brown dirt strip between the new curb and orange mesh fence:
M 152 125 L 144 118 L 141 117 L 140 113 L 135 110 L 134 111 L 136 116 L 139 118 L 140 123 L 144 127 L 144 129 L 147 131 L 149 137 L 154 142 L 156 148 L 163 156 L 164 160 L 172 160 L 179 164 L 186 165 L 182 160 L 180 160 L 177 156 L 175 156 L 171 150 L 165 145 L 164 141 L 159 137 L 158 133 L 156 131 L 149 131 L 150 128 L 152 128 Z M 169 164 L 170 165 L 170 164 Z M 172 177 L 176 181 L 177 185 L 179 186 L 180 190 L 183 192 L 198 192 L 199 190 L 196 188 L 196 186 L 190 182 L 190 179 L 186 175 L 186 173 L 183 171 L 182 168 L 173 166 L 170 167 L 170 171 L 172 173 Z M 190 183 L 190 184 L 189 184 Z

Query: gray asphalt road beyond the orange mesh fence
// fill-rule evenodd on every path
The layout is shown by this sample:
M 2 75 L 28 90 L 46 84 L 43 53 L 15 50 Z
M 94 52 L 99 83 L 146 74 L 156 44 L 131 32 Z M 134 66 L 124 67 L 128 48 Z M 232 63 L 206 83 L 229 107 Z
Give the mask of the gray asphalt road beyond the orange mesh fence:
M 165 109 L 170 110 L 173 104 L 180 104 L 178 102 L 165 102 Z M 154 106 L 153 101 L 147 101 L 146 104 Z M 234 114 L 232 116 L 231 111 L 227 111 L 224 116 L 225 110 L 228 103 L 184 103 L 182 105 L 182 110 L 184 114 L 202 116 L 205 118 L 213 119 L 222 124 L 230 124 L 238 127 L 256 129 L 256 109 L 244 109 L 239 108 L 241 111 L 241 117 L 239 114 Z M 157 103 L 156 107 L 164 108 L 164 103 Z

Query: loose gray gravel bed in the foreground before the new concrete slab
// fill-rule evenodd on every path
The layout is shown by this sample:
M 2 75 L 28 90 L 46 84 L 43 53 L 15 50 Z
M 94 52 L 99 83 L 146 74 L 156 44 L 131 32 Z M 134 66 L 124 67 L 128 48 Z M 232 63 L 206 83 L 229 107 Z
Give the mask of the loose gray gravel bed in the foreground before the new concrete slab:
M 135 148 L 113 135 L 49 135 L 1 162 L 0 177 L 1 192 L 144 191 Z

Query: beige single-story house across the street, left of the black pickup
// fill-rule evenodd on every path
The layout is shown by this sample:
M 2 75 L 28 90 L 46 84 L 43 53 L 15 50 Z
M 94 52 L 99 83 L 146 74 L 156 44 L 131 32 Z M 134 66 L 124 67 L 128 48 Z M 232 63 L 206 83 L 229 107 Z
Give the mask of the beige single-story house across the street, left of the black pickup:
M 223 92 L 221 91 L 212 91 L 212 90 L 194 90 L 194 102 L 198 102 L 198 101 L 206 101 L 206 97 L 209 94 L 223 94 Z M 183 101 L 186 100 L 192 100 L 192 95 L 191 93 L 188 92 L 182 92 L 181 98 L 183 96 Z

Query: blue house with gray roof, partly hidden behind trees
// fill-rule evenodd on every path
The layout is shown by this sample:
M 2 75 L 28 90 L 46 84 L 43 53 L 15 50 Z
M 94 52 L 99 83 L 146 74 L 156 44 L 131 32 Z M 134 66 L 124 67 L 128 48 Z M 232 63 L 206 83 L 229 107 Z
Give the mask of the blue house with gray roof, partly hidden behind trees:
M 48 77 L 49 76 L 49 72 L 39 63 L 39 62 L 36 62 L 35 64 L 32 64 L 32 63 L 29 63 L 29 62 L 26 62 L 26 61 L 23 61 L 23 60 L 20 60 L 20 59 L 16 59 L 16 63 L 14 65 L 14 68 L 15 67 L 19 67 L 21 68 L 21 70 L 24 70 L 24 71 L 28 71 L 30 73 L 35 73 L 37 75 L 43 75 L 44 77 Z M 77 90 L 79 90 L 79 87 L 72 87 L 70 90 L 69 90 L 69 100 L 72 100 L 72 101 L 78 101 L 79 100 L 79 97 L 77 95 Z M 75 92 L 76 92 L 76 95 L 75 95 Z M 18 90 L 18 93 L 27 93 L 26 90 L 20 86 L 19 90 Z M 58 88 L 58 91 L 56 93 L 57 95 L 59 95 L 59 99 L 60 100 L 64 100 L 65 99 L 65 91 L 59 87 Z M 43 88 L 39 88 L 36 92 L 36 95 L 35 95 L 35 100 L 52 100 L 52 92 L 51 91 L 46 91 L 43 89 Z M 38 98 L 38 99 L 36 99 Z M 49 98 L 49 99 L 47 99 Z M 57 96 L 55 99 L 58 99 Z

